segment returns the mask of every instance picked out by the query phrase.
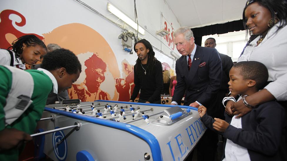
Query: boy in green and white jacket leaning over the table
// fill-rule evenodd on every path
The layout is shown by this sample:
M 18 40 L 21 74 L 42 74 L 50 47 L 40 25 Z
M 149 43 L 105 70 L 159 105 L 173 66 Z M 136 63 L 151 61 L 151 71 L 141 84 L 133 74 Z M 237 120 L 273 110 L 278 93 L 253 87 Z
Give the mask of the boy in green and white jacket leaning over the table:
M 70 50 L 44 56 L 42 68 L 19 70 L 0 66 L 0 160 L 18 160 L 24 142 L 32 140 L 48 94 L 71 88 L 81 64 Z

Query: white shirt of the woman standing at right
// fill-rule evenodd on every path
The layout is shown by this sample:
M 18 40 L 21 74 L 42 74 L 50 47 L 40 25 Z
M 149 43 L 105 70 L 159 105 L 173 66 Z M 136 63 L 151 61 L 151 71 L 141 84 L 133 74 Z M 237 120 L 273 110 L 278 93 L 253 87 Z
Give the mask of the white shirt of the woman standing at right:
M 260 37 L 255 38 L 255 40 L 245 48 L 243 55 L 238 58 L 237 62 L 257 61 L 263 63 L 268 69 L 268 81 L 273 81 L 264 87 L 264 89 L 267 89 L 278 101 L 286 101 L 287 26 L 284 26 L 276 33 L 279 23 L 268 31 L 258 46 L 256 45 Z

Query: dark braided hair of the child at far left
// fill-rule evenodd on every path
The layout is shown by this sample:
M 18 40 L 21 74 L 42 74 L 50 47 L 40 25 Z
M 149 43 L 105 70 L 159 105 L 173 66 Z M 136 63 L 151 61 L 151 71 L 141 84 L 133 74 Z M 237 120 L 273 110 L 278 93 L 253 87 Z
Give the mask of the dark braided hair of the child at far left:
M 16 57 L 16 61 L 17 62 L 19 62 L 18 59 L 20 59 L 20 55 L 23 52 L 23 43 L 27 47 L 40 45 L 42 48 L 47 50 L 47 47 L 44 44 L 44 42 L 42 40 L 40 40 L 38 37 L 36 37 L 35 35 L 24 35 L 24 36 L 21 36 L 20 38 L 14 40 L 13 43 L 12 43 L 12 46 L 10 46 L 8 48 L 8 50 L 10 48 L 12 48 L 12 50 L 15 52 L 15 57 Z

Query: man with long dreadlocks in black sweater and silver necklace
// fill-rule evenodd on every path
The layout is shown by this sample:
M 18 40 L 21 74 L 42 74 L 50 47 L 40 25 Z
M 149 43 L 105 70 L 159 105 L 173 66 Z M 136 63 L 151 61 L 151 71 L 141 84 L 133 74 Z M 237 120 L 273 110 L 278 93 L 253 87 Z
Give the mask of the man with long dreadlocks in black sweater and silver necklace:
M 134 44 L 134 50 L 138 55 L 134 66 L 134 91 L 130 102 L 139 94 L 139 103 L 161 103 L 161 91 L 163 88 L 161 62 L 154 57 L 154 51 L 147 40 L 142 39 Z

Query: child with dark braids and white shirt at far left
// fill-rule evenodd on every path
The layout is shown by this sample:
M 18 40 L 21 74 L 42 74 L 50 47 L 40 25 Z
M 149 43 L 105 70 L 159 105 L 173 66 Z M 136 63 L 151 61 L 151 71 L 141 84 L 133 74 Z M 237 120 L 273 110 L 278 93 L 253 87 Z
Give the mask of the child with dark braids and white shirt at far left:
M 26 69 L 25 64 L 36 64 L 46 52 L 47 48 L 42 40 L 35 35 L 24 35 L 13 41 L 8 50 L 0 49 L 0 65 Z

